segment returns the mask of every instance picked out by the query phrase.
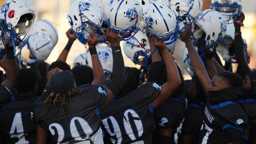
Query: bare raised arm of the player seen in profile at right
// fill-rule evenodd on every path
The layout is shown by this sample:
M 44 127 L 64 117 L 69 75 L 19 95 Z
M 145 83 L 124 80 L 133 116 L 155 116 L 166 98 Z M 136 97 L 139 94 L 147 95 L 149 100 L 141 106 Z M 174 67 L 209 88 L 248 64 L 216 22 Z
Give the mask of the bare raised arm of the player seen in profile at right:
M 195 74 L 197 75 L 203 90 L 207 93 L 208 87 L 211 86 L 211 79 L 208 76 L 206 67 L 204 67 L 203 62 L 198 56 L 197 51 L 191 41 L 191 26 L 187 26 L 189 31 L 180 33 L 181 39 L 185 42 L 187 50 L 189 51 L 189 58 L 192 66 L 194 67 Z

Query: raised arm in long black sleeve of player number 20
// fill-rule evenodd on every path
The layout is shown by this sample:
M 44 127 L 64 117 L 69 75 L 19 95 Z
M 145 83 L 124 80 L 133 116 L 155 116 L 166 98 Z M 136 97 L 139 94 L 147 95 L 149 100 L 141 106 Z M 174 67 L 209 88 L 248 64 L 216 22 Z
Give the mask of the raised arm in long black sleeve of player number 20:
M 124 70 L 124 58 L 121 54 L 118 34 L 108 28 L 105 39 L 110 42 L 110 47 L 112 48 L 113 72 L 111 80 L 104 86 L 108 93 L 107 99 L 99 107 L 99 110 L 102 110 L 105 105 L 108 105 L 108 103 L 112 101 L 112 99 L 124 88 L 127 81 Z

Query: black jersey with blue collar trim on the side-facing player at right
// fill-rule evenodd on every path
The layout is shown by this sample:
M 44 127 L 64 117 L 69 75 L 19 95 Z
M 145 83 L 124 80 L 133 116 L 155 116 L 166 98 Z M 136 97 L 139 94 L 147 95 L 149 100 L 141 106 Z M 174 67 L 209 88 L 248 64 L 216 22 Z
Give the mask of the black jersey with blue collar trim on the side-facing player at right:
M 246 114 L 236 102 L 206 106 L 200 143 L 241 143 L 241 133 L 246 124 Z

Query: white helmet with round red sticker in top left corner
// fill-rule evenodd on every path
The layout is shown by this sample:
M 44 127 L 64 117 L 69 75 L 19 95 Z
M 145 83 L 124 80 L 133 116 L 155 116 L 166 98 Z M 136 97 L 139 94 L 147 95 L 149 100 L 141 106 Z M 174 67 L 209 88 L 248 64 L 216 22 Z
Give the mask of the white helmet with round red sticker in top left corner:
M 26 0 L 7 0 L 0 10 L 1 37 L 4 39 L 26 36 L 34 22 L 35 12 Z M 23 37 L 23 38 L 24 38 Z

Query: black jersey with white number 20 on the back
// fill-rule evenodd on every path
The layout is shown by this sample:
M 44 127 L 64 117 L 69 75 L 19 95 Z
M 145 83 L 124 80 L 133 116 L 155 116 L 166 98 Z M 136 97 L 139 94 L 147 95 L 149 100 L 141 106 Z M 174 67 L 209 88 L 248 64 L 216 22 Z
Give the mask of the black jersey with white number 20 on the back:
M 60 107 L 58 113 L 48 110 L 44 102 L 34 108 L 34 120 L 42 128 L 49 129 L 56 143 L 75 143 L 90 139 L 101 125 L 98 106 L 104 102 L 107 92 L 100 86 L 79 86 L 82 94 L 69 98 L 66 113 Z

